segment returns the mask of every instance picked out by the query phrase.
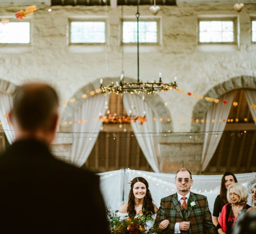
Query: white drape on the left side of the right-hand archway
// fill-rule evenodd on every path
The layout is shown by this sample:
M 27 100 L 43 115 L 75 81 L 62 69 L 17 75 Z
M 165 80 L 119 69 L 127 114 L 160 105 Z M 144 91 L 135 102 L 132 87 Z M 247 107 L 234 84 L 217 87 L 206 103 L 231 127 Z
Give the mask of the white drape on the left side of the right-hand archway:
M 204 124 L 202 125 L 202 132 L 209 132 L 204 136 L 204 145 L 202 152 L 202 171 L 208 166 L 214 152 L 221 140 L 222 132 L 225 129 L 230 108 L 232 105 L 234 92 L 229 92 L 221 96 L 221 100 L 226 100 L 227 104 L 212 103 L 208 111 L 205 113 Z M 209 120 L 208 122 L 206 120 Z M 212 120 L 215 120 L 214 122 Z M 222 120 L 219 122 L 219 120 Z M 225 120 L 225 122 L 223 121 Z M 216 131 L 216 133 L 215 133 Z M 220 132 L 218 132 L 220 131 Z

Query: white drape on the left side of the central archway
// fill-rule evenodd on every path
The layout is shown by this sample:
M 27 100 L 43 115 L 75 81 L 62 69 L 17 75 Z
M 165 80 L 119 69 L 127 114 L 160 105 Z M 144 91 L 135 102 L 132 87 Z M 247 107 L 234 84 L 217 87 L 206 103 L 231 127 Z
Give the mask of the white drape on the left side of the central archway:
M 107 95 L 108 100 L 109 95 Z M 105 101 L 105 95 L 94 95 L 85 99 L 74 113 L 74 120 L 82 120 L 82 123 L 72 125 L 72 132 L 76 134 L 71 148 L 71 163 L 77 167 L 84 165 L 98 138 L 102 125 L 102 121 L 99 121 L 98 117 L 99 113 L 105 115 Z

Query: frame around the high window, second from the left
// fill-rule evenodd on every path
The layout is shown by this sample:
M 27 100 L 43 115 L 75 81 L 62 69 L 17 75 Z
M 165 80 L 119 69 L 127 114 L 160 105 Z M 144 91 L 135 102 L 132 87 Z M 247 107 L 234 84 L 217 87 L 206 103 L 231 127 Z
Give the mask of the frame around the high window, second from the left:
M 79 43 L 73 43 L 71 42 L 71 22 L 104 22 L 105 23 L 105 42 L 79 42 Z M 107 19 L 106 18 L 97 18 L 97 19 L 68 19 L 68 45 L 70 46 L 76 46 L 76 45 L 106 45 L 107 44 Z

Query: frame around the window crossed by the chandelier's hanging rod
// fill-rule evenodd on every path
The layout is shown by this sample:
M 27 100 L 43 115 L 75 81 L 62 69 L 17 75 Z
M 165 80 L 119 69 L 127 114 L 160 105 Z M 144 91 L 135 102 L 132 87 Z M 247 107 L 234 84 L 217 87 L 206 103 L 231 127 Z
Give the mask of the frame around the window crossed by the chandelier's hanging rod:
M 139 22 L 157 22 L 157 42 L 139 42 L 140 45 L 160 45 L 160 18 L 142 18 L 139 19 Z M 121 30 L 120 30 L 120 39 L 121 39 L 121 45 L 127 46 L 127 45 L 136 45 L 137 42 L 123 42 L 123 22 L 137 22 L 134 18 L 123 18 L 120 20 L 121 22 Z

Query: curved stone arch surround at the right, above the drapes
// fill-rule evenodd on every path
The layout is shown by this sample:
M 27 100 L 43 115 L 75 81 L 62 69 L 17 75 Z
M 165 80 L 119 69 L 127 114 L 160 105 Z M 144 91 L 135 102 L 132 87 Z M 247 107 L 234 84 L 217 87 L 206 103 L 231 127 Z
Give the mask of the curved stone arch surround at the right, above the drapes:
M 253 88 L 256 89 L 256 77 L 254 76 L 237 76 L 231 78 L 223 83 L 219 83 L 218 85 L 211 88 L 204 96 L 218 98 L 219 96 L 228 93 L 235 89 L 244 89 L 244 88 Z M 209 109 L 212 103 L 199 100 L 193 108 L 192 119 L 203 119 L 205 112 Z M 191 124 L 191 132 L 200 131 L 201 122 L 193 122 Z

